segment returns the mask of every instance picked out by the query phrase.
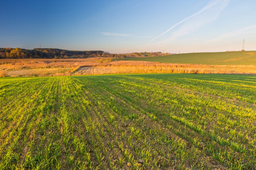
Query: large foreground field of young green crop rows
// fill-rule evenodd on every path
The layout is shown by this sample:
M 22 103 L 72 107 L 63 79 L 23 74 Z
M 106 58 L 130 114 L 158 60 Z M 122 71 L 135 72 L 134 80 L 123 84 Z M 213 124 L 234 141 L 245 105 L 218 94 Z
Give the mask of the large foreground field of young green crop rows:
M 255 169 L 256 76 L 0 79 L 0 169 Z

